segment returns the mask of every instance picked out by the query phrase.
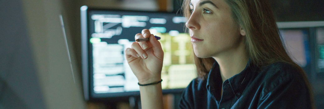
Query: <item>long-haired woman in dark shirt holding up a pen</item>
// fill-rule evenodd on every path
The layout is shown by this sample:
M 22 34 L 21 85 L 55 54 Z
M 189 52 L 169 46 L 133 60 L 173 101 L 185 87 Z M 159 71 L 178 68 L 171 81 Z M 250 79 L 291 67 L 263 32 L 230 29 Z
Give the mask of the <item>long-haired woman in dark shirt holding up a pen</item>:
M 185 0 L 198 78 L 180 108 L 314 108 L 305 72 L 284 49 L 267 0 Z M 147 29 L 125 50 L 143 109 L 161 109 L 163 51 Z

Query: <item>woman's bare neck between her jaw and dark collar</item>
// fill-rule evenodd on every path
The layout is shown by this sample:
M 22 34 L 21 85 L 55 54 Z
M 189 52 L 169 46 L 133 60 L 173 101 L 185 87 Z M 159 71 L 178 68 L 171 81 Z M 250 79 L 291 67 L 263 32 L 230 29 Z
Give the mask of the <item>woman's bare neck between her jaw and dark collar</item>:
M 237 48 L 222 52 L 222 54 L 219 54 L 213 58 L 219 64 L 223 82 L 243 71 L 249 61 L 244 43 L 242 42 Z

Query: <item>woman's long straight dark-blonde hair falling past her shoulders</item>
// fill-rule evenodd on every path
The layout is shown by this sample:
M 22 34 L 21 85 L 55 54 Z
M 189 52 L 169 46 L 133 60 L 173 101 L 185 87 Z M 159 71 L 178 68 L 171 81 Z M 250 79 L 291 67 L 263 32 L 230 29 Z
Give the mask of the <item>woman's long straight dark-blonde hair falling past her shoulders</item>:
M 268 0 L 225 0 L 225 2 L 231 8 L 234 21 L 246 32 L 244 38 L 246 53 L 251 62 L 258 67 L 274 62 L 286 62 L 293 65 L 303 76 L 311 100 L 313 100 L 312 88 L 305 71 L 286 52 Z M 190 0 L 183 1 L 182 9 L 184 16 L 189 18 L 191 15 Z M 194 55 L 194 60 L 198 77 L 206 78 L 215 60 L 199 58 L 196 55 Z

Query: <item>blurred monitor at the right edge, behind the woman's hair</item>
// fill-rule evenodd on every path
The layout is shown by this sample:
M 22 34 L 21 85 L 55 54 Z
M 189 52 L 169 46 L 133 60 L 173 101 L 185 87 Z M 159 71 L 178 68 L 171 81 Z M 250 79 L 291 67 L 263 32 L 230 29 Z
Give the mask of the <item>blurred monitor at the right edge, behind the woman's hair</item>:
M 277 22 L 277 25 L 288 54 L 309 78 L 323 73 L 324 21 Z

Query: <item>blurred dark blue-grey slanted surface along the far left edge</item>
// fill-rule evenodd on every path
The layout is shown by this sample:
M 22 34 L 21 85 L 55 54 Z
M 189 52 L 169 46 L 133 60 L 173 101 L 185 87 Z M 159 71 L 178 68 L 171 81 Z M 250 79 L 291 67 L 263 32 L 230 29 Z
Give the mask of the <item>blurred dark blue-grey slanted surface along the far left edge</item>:
M 0 0 L 0 109 L 45 109 L 21 0 Z

